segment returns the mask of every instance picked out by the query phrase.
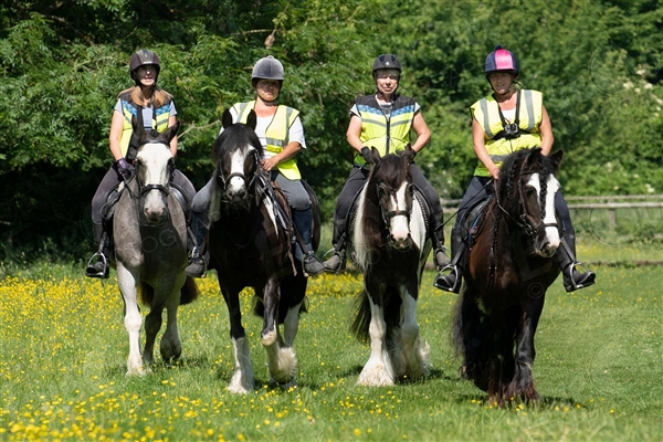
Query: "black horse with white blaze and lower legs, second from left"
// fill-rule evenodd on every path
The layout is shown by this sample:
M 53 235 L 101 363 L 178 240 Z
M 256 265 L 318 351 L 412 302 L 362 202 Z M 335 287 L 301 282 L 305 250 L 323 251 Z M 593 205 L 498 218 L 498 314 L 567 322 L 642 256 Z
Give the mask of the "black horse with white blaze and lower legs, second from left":
M 251 112 L 246 124 L 233 124 L 225 110 L 222 124 L 224 130 L 212 148 L 217 168 L 208 211 L 210 264 L 219 274 L 230 314 L 235 371 L 228 389 L 245 393 L 253 389 L 254 379 L 240 292 L 244 287 L 255 291 L 254 313 L 263 317 L 261 339 L 270 375 L 272 381 L 285 387 L 294 383 L 293 343 L 299 313 L 305 311 L 307 278 L 301 263 L 293 260 L 288 206 L 261 167 L 263 147 L 254 131 L 255 113 Z M 319 225 L 314 227 L 315 231 L 319 231 Z M 316 238 L 314 246 L 317 241 Z M 285 339 L 280 324 L 284 325 Z

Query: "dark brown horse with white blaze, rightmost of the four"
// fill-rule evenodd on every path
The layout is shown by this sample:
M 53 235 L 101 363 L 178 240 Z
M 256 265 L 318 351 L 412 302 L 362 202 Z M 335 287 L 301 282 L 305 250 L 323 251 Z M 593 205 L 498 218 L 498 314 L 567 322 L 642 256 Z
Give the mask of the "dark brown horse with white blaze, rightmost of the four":
M 538 148 L 512 154 L 475 223 L 481 230 L 471 244 L 453 337 L 462 376 L 499 406 L 538 399 L 534 337 L 546 291 L 559 274 L 554 173 L 561 157 L 561 150 L 546 157 Z

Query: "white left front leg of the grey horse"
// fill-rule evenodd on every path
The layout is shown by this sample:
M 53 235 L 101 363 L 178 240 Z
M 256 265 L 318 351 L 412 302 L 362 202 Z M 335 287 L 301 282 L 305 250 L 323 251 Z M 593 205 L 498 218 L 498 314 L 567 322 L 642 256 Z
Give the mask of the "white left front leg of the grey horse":
M 117 263 L 117 284 L 125 303 L 125 328 L 129 334 L 129 357 L 127 358 L 127 376 L 145 375 L 143 358 L 140 357 L 140 327 L 143 317 L 138 309 L 137 286 L 138 278 L 126 269 L 122 262 Z

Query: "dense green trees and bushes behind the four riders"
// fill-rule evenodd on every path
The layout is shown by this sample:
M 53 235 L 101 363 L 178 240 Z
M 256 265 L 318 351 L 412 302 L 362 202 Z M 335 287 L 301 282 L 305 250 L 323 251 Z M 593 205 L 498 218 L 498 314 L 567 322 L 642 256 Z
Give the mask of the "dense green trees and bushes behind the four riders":
M 67 198 L 90 200 L 139 48 L 162 61 L 159 84 L 182 122 L 177 165 L 197 187 L 211 172 L 222 110 L 253 96 L 251 67 L 273 54 L 286 69 L 283 102 L 302 112 L 301 168 L 330 218 L 350 166 L 348 108 L 375 90 L 375 56 L 392 52 L 404 66 L 400 92 L 422 105 L 433 135 L 418 164 L 441 197 L 459 198 L 476 162 L 469 107 L 491 92 L 484 59 L 503 44 L 522 85 L 544 92 L 567 194 L 663 192 L 660 0 L 10 0 L 0 24 L 0 233 L 80 221 L 23 189 L 41 182 L 40 194 L 63 206 L 61 186 L 31 175 L 62 168 Z

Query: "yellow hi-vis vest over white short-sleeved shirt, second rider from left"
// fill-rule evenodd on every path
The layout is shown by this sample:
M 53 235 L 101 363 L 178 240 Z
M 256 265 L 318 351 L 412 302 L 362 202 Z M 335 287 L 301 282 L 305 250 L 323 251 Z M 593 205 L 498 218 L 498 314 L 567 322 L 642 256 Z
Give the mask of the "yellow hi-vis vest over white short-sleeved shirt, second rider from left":
M 255 107 L 255 99 L 246 103 L 236 103 L 232 107 L 238 113 L 238 122 L 245 124 L 246 118 L 249 118 L 249 113 Z M 272 122 L 265 130 L 265 138 L 267 143 L 265 146 L 266 150 L 278 154 L 285 146 L 288 145 L 290 128 L 295 123 L 295 119 L 298 115 L 299 110 L 292 107 L 284 105 L 278 105 L 276 107 L 276 114 L 274 114 L 274 118 L 272 118 Z M 276 165 L 276 167 L 278 168 L 281 175 L 291 181 L 302 179 L 302 173 L 299 173 L 297 161 L 295 161 L 294 158 L 281 161 L 278 165 Z

